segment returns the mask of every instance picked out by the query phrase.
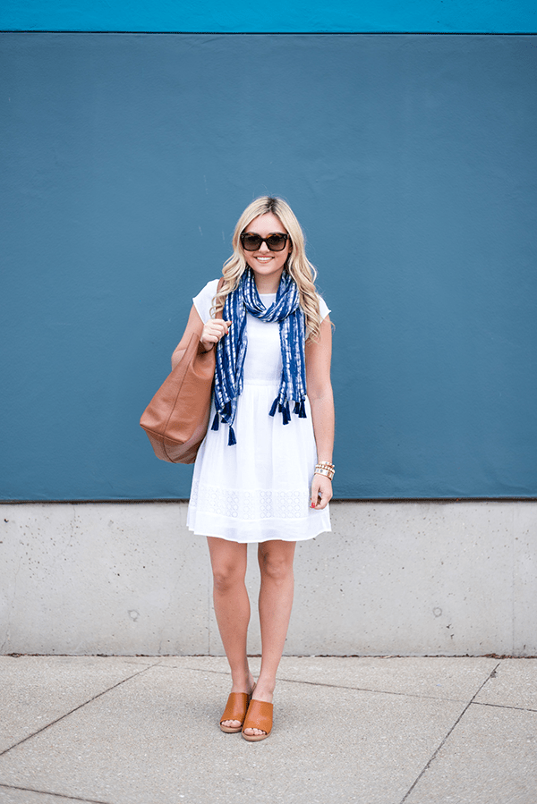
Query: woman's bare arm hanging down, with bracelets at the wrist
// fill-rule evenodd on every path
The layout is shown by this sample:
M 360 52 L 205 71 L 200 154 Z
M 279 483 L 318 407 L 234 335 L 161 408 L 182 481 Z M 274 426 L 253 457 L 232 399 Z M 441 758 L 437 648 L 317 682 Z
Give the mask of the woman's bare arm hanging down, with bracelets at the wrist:
M 306 343 L 306 381 L 311 404 L 313 433 L 317 444 L 318 461 L 332 462 L 334 449 L 334 395 L 330 382 L 332 358 L 332 326 L 327 316 L 320 325 L 317 342 Z M 313 475 L 311 507 L 326 508 L 332 497 L 332 481 L 324 475 Z M 320 498 L 320 499 L 319 499 Z

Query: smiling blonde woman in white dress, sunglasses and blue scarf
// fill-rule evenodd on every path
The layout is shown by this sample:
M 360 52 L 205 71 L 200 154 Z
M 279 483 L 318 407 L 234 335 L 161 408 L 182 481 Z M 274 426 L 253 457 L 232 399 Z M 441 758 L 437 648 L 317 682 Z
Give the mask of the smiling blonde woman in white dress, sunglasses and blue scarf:
M 272 728 L 294 547 L 330 530 L 331 326 L 301 227 L 285 201 L 253 201 L 236 225 L 233 250 L 223 284 L 209 282 L 194 298 L 187 327 L 197 328 L 206 351 L 217 349 L 209 431 L 194 467 L 187 523 L 208 537 L 215 613 L 231 668 L 220 728 L 260 741 Z M 185 338 L 173 364 L 184 346 Z M 261 576 L 257 684 L 246 652 L 249 542 L 259 543 Z

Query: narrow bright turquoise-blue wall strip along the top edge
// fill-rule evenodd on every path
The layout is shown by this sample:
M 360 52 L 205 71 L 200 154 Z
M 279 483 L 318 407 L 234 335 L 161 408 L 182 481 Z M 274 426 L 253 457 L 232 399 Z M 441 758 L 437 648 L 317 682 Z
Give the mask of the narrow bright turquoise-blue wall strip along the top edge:
M 0 29 L 524 33 L 537 31 L 537 6 L 530 0 L 3 0 Z

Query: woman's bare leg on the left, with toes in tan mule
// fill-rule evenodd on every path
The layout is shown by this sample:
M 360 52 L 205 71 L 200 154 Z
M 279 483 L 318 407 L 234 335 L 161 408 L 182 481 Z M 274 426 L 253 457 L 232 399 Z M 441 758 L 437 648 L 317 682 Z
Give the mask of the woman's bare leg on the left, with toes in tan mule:
M 250 600 L 244 576 L 246 574 L 246 545 L 224 538 L 208 537 L 210 563 L 213 571 L 213 599 L 218 631 L 231 668 L 232 692 L 248 692 L 254 686 L 246 654 L 246 637 L 250 622 Z M 225 725 L 239 726 L 228 720 Z

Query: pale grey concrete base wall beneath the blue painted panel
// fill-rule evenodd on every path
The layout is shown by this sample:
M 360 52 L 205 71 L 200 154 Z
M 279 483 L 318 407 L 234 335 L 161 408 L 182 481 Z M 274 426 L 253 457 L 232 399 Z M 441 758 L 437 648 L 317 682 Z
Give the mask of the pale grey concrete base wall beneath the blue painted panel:
M 185 503 L 0 505 L 0 653 L 220 655 Z M 537 654 L 537 504 L 332 505 L 286 655 Z M 249 651 L 260 653 L 256 546 Z

